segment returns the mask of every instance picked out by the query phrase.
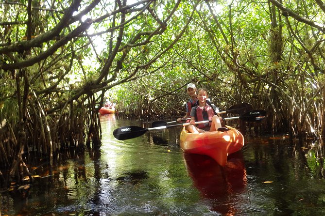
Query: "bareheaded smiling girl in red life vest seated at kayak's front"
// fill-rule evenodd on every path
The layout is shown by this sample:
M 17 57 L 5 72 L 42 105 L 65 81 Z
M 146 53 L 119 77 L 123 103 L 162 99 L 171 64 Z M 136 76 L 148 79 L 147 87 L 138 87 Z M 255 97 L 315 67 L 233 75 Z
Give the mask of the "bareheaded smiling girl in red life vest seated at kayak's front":
M 211 104 L 208 99 L 207 90 L 200 88 L 197 91 L 197 106 L 193 107 L 190 112 L 191 120 L 189 123 L 191 125 L 186 126 L 186 129 L 190 133 L 203 133 L 206 131 L 216 131 L 218 128 L 222 127 L 220 119 L 222 119 L 218 112 L 218 108 Z M 195 122 L 201 122 L 209 120 L 209 123 L 195 124 Z

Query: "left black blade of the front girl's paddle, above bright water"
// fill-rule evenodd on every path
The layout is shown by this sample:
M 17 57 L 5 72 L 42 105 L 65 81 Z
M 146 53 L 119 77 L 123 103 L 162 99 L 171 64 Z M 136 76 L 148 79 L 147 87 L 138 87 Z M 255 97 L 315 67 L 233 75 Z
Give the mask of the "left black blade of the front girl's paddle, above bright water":
M 116 139 L 132 139 L 140 137 L 148 131 L 147 128 L 138 127 L 138 126 L 124 126 L 117 128 L 113 131 L 113 135 Z

